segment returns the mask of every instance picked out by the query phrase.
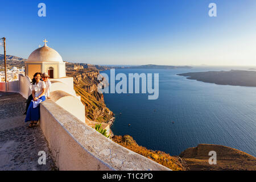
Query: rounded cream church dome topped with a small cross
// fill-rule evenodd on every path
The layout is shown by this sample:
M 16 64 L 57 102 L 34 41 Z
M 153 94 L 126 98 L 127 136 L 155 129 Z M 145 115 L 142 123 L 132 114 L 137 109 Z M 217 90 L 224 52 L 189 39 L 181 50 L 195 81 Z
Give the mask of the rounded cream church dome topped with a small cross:
M 35 49 L 30 56 L 28 56 L 27 61 L 40 61 L 40 62 L 63 62 L 60 54 L 55 51 L 55 49 L 48 47 L 46 45 L 46 40 L 44 41 L 44 46 Z

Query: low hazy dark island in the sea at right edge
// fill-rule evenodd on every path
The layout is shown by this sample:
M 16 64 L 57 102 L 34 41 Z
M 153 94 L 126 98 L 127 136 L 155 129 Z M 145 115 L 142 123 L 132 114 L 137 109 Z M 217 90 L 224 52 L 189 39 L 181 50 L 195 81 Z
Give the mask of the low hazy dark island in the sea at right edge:
M 177 74 L 188 79 L 214 83 L 218 85 L 256 86 L 255 71 L 208 71 Z

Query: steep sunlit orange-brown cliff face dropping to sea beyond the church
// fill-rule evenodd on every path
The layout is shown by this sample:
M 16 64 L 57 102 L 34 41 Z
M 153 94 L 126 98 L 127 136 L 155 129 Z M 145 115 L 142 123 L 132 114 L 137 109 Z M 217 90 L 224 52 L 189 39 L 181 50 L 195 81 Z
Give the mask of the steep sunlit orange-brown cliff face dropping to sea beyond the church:
M 74 89 L 85 105 L 86 118 L 108 123 L 114 114 L 106 107 L 103 94 L 97 92 L 97 86 L 100 83 L 97 80 L 99 74 L 98 70 L 89 68 L 67 71 L 67 76 L 74 78 Z

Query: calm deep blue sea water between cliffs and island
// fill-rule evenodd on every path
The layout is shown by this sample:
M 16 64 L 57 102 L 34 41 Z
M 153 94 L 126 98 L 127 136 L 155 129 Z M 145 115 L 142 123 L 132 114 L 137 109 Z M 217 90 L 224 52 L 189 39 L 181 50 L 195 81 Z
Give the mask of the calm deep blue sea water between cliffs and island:
M 238 68 L 115 69 L 116 74 L 127 77 L 128 73 L 159 73 L 159 98 L 105 93 L 105 104 L 115 114 L 114 135 L 129 134 L 139 145 L 170 155 L 210 143 L 256 156 L 256 88 L 216 85 L 176 75 L 230 69 Z M 104 73 L 110 76 L 110 71 Z

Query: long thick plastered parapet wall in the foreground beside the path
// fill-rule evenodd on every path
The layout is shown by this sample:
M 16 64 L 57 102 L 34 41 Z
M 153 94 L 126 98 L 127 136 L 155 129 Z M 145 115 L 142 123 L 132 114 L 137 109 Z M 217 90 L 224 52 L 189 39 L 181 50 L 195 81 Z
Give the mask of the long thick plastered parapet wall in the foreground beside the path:
M 52 100 L 40 104 L 40 115 L 60 170 L 170 170 L 104 137 Z

